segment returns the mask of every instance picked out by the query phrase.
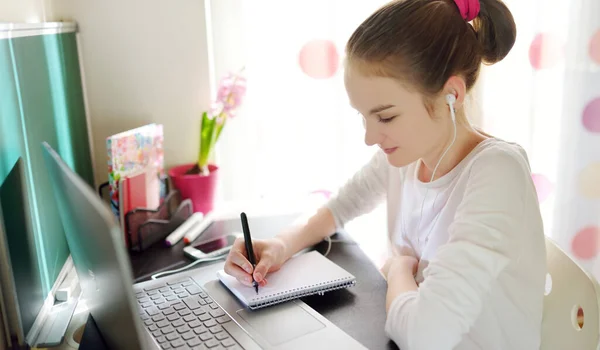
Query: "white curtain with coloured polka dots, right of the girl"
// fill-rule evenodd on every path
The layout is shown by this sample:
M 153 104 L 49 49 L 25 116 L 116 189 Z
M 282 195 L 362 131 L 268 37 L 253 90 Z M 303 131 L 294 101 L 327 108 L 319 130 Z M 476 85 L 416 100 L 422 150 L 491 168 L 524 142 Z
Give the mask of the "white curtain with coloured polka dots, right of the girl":
M 546 234 L 600 279 L 600 2 L 506 1 L 518 39 L 483 73 L 483 127 L 522 144 Z

